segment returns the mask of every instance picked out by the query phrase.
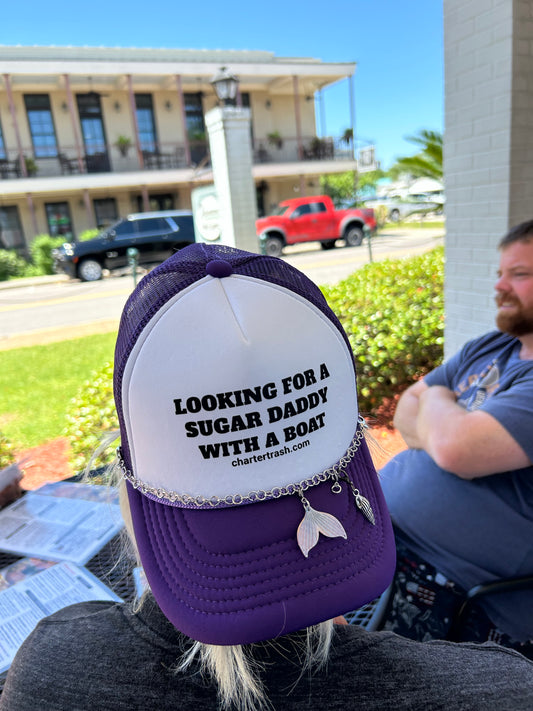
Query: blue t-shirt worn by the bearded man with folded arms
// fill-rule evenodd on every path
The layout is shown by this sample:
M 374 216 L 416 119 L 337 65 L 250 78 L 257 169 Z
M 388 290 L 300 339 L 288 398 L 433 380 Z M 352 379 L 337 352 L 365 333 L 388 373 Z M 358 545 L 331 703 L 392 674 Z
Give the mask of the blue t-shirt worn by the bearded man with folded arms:
M 533 361 L 520 360 L 520 345 L 491 332 L 425 382 L 445 385 L 466 409 L 492 415 L 533 462 Z M 409 547 L 463 588 L 533 573 L 533 466 L 465 480 L 409 449 L 383 468 L 381 483 Z M 483 604 L 502 631 L 533 638 L 533 592 L 493 595 Z

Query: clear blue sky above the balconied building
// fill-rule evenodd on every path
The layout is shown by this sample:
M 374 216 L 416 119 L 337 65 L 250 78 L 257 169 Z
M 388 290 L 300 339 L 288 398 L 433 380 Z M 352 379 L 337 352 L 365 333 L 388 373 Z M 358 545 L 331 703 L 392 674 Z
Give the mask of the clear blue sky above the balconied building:
M 25 0 L 3 3 L 0 44 L 261 49 L 356 62 L 360 144 L 387 169 L 416 147 L 405 136 L 443 129 L 442 0 Z M 325 91 L 325 129 L 350 122 L 346 82 Z

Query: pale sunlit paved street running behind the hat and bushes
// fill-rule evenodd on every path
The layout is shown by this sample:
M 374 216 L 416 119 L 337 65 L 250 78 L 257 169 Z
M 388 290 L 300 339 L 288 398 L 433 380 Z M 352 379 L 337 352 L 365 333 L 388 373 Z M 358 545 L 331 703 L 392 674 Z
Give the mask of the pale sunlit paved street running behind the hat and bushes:
M 443 242 L 444 229 L 382 232 L 372 240 L 374 261 L 412 256 Z M 369 261 L 369 249 L 324 251 L 317 243 L 289 247 L 284 259 L 317 284 L 334 284 Z M 7 286 L 7 285 L 4 285 Z M 131 275 L 98 282 L 56 280 L 0 289 L 0 350 L 114 330 L 133 288 Z

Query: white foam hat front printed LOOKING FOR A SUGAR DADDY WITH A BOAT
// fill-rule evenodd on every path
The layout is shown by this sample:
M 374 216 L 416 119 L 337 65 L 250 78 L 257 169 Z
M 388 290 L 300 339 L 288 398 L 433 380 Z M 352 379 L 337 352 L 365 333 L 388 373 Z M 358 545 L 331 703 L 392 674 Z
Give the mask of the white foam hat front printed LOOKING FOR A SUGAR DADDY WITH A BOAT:
M 122 400 L 136 478 L 185 506 L 275 496 L 342 457 L 358 420 L 339 329 L 295 292 L 239 274 L 206 276 L 157 311 Z

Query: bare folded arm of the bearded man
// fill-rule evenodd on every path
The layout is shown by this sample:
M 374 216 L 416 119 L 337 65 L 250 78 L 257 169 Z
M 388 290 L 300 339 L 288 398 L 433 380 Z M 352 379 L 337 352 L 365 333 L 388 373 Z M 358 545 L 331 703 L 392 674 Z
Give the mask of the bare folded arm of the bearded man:
M 463 479 L 475 479 L 531 464 L 522 447 L 492 415 L 465 410 L 448 388 L 426 387 L 418 400 L 418 440 L 442 469 Z

